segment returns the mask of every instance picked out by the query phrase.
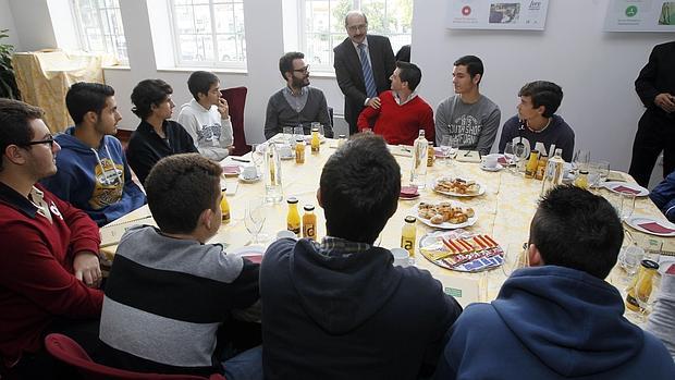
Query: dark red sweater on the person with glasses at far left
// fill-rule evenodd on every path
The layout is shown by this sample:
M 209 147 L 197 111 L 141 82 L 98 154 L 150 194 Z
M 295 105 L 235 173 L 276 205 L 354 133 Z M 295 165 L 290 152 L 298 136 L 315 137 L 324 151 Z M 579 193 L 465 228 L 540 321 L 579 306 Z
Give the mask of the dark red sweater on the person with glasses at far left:
M 0 183 L 0 360 L 12 366 L 41 347 L 40 334 L 57 316 L 99 317 L 103 293 L 73 274 L 75 253 L 98 252 L 100 235 L 84 212 L 40 185 L 53 224 Z

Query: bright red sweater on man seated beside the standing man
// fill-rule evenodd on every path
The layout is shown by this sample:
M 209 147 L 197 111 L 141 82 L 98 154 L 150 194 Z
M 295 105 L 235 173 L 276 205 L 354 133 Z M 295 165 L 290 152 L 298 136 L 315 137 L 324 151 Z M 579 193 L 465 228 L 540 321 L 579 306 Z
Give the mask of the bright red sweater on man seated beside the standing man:
M 382 135 L 386 143 L 392 145 L 413 145 L 419 130 L 425 130 L 425 136 L 431 144 L 435 140 L 433 110 L 416 96 L 413 100 L 398 106 L 391 90 L 380 94 L 380 108 L 366 107 L 358 115 L 358 130 L 371 127 L 371 121 L 377 118 L 372 131 Z

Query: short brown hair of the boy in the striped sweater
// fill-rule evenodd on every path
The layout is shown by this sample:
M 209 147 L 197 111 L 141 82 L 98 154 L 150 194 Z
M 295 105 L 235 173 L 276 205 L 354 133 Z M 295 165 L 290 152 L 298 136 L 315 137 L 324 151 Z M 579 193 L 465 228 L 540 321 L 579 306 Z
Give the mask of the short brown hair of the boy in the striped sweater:
M 145 181 L 148 207 L 157 225 L 167 233 L 191 233 L 199 216 L 213 210 L 220 195 L 222 168 L 199 154 L 164 157 Z M 216 205 L 220 207 L 219 205 Z M 216 211 L 216 210 L 213 210 Z

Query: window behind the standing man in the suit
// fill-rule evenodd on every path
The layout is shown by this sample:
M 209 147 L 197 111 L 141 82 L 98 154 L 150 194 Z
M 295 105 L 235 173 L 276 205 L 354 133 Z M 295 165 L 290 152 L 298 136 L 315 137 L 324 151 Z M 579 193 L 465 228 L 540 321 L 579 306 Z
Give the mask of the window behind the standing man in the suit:
M 368 33 L 388 36 L 394 53 L 410 44 L 413 0 L 297 0 L 299 49 L 305 60 L 321 72 L 333 71 L 333 48 L 347 33 L 344 16 L 360 9 L 368 17 Z

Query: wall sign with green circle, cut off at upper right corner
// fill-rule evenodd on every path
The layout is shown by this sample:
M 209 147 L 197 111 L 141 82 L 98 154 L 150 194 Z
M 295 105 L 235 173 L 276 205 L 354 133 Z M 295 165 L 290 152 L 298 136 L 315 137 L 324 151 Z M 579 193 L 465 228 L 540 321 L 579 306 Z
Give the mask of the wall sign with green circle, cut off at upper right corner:
M 610 0 L 608 32 L 675 32 L 675 0 Z

